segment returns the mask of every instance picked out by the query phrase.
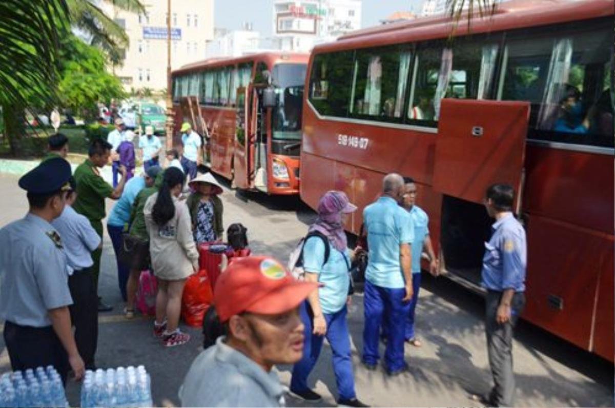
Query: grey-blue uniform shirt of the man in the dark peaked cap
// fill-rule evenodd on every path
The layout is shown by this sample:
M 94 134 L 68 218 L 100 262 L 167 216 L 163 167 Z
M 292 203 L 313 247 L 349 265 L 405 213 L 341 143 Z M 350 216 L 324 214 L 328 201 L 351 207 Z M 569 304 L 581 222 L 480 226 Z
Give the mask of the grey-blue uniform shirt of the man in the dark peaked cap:
M 73 304 L 66 255 L 54 227 L 33 214 L 0 230 L 0 318 L 47 327 L 47 311 Z

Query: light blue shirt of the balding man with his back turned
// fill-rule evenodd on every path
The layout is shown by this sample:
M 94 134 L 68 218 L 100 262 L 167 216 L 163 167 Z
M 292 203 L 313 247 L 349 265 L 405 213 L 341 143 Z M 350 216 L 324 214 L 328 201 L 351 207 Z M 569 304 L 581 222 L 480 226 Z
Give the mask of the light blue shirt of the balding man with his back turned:
M 365 279 L 389 289 L 404 287 L 399 246 L 415 239 L 412 217 L 391 197 L 381 197 L 365 207 L 363 223 L 369 247 Z

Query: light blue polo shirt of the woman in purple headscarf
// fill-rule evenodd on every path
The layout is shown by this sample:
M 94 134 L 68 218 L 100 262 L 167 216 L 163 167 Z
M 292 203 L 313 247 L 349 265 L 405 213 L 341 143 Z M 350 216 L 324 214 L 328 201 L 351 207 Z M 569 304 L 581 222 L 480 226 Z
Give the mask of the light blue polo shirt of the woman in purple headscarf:
M 348 276 L 348 266 L 350 265 L 350 254 L 330 246 L 330 254 L 327 263 L 325 262 L 325 243 L 321 238 L 312 236 L 303 246 L 303 270 L 308 273 L 318 274 L 318 281 L 325 286 L 318 289 L 320 308 L 322 313 L 336 313 L 346 305 L 348 296 L 348 286 L 350 278 Z M 346 257 L 346 259 L 344 259 Z

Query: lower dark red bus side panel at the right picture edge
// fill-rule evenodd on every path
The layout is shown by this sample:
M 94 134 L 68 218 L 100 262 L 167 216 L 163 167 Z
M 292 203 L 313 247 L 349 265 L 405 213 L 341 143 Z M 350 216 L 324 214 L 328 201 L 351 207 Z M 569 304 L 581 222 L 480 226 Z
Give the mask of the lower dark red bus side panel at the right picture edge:
M 605 240 L 605 260 L 601 265 L 600 281 L 598 283 L 598 302 L 595 310 L 596 324 L 593 330 L 593 351 L 613 361 L 615 358 L 615 304 L 613 302 L 613 239 Z

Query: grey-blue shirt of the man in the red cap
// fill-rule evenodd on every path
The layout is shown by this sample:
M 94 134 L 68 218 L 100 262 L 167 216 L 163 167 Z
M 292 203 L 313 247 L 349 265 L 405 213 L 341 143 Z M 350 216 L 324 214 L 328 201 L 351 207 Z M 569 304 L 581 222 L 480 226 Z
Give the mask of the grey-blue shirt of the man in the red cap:
M 284 407 L 277 374 L 265 372 L 219 337 L 194 359 L 180 388 L 183 407 Z

